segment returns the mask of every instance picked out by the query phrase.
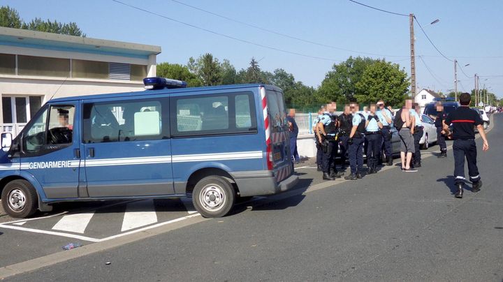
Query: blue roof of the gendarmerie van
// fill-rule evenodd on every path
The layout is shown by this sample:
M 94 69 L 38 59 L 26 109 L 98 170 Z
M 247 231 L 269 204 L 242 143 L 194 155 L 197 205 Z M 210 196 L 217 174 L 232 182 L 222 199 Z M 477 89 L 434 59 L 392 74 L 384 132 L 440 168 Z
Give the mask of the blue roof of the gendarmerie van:
M 280 91 L 282 89 L 269 84 L 230 84 L 230 85 L 218 85 L 218 86 L 207 86 L 207 87 L 187 87 L 187 88 L 175 88 L 175 89 L 159 89 L 159 90 L 144 90 L 144 91 L 133 91 L 133 92 L 120 92 L 120 93 L 110 93 L 110 94 L 94 94 L 85 96 L 71 96 L 63 98 L 54 98 L 49 102 L 64 102 L 64 101 L 76 101 L 76 100 L 90 100 L 99 98 L 123 98 L 123 97 L 135 97 L 135 96 L 150 96 L 156 94 L 173 94 L 173 93 L 191 93 L 203 91 L 215 91 L 215 90 L 228 90 L 228 89 L 246 89 L 246 88 L 256 88 L 265 87 L 266 90 L 270 91 Z

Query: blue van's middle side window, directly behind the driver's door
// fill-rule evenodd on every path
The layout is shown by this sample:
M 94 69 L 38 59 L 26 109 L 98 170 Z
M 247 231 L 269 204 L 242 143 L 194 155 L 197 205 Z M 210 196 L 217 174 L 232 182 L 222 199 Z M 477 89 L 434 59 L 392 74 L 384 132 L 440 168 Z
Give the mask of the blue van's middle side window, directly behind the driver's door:
M 84 142 L 167 138 L 163 135 L 161 102 L 149 99 L 84 104 Z

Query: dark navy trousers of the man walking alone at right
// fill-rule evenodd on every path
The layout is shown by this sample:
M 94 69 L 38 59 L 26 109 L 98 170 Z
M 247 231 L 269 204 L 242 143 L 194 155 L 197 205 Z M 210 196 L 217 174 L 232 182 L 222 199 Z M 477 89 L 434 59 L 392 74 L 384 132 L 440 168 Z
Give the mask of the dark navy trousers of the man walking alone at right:
M 479 168 L 476 166 L 476 144 L 475 140 L 454 140 L 453 142 L 454 154 L 454 177 L 455 183 L 465 180 L 465 158 L 468 164 L 469 180 L 472 182 L 481 179 L 479 175 Z

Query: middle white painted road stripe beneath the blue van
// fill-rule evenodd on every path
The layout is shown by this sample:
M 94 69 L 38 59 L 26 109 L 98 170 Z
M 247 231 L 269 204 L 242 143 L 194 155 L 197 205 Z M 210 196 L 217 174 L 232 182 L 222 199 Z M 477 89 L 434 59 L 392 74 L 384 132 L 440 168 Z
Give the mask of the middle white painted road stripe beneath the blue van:
M 154 200 L 130 202 L 126 205 L 121 232 L 157 222 Z

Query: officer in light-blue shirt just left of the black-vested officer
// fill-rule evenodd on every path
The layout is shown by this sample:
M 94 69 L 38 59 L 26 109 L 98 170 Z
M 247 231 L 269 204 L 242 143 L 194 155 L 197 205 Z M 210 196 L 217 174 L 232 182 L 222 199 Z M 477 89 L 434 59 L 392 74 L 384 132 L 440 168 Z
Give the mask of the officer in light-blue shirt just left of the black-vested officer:
M 337 115 L 335 114 L 335 102 L 330 103 L 329 112 L 323 114 L 318 123 L 318 138 L 323 149 L 323 179 L 334 180 L 340 178 L 335 167 L 335 155 L 337 154 Z

